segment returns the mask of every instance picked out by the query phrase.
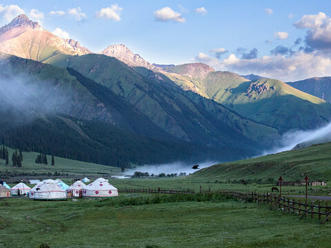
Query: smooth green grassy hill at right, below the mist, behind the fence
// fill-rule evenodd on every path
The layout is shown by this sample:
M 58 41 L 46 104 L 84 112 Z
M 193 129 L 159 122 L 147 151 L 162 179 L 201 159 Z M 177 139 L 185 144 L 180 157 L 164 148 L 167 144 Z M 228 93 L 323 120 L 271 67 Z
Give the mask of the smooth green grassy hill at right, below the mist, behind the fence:
M 191 178 L 203 180 L 268 179 L 303 180 L 308 174 L 311 180 L 331 180 L 331 143 L 271 154 L 243 161 L 221 163 L 201 169 Z

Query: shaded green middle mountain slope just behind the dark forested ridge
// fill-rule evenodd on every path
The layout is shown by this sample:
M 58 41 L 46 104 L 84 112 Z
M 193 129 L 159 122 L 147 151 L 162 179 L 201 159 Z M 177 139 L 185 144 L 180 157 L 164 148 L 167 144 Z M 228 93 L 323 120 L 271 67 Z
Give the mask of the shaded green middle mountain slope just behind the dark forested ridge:
M 252 148 L 250 145 L 252 141 L 248 136 L 254 136 L 254 132 L 245 129 L 256 123 L 245 125 L 239 117 L 232 121 L 227 118 L 231 114 L 228 114 L 230 110 L 225 107 L 219 107 L 221 111 L 214 114 L 212 111 L 206 110 L 205 105 L 201 105 L 200 102 L 204 100 L 192 101 L 183 90 L 174 89 L 161 76 L 154 78 L 147 74 L 145 76 L 144 73 L 132 70 L 117 59 L 100 54 L 67 56 L 66 59 L 57 62 L 50 61 L 50 63 L 70 67 L 83 76 L 108 87 L 146 114 L 156 125 L 177 138 L 199 143 L 231 145 L 244 149 L 249 146 Z M 172 85 L 174 84 L 172 83 Z M 199 98 L 199 96 L 197 97 Z M 236 122 L 241 124 L 236 125 Z M 264 132 L 264 135 L 267 136 L 269 134 L 274 136 L 277 133 L 270 127 L 265 127 L 264 130 L 270 130 L 270 132 Z M 249 135 L 245 136 L 246 133 Z M 257 136 L 262 136 L 260 134 Z M 252 139 L 258 143 L 261 142 L 261 139 Z M 256 143 L 253 146 L 258 147 L 259 144 Z

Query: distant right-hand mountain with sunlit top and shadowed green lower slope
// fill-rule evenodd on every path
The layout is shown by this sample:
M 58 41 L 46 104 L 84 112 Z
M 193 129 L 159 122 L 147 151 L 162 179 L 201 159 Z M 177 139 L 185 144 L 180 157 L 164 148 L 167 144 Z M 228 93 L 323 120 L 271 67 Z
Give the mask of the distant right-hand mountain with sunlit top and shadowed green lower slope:
M 246 118 L 276 128 L 280 133 L 293 129 L 308 130 L 330 121 L 330 104 L 281 81 L 249 81 L 232 72 L 208 70 L 197 77 L 192 73 L 194 66 L 198 65 L 174 66 L 165 74 L 183 90 L 217 101 Z

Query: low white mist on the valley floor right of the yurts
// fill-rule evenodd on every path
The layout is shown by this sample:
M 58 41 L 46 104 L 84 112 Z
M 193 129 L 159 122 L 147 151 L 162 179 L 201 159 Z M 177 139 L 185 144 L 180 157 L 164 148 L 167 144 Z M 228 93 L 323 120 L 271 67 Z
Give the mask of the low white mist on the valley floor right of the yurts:
M 218 162 L 215 161 L 205 161 L 203 163 L 183 163 L 183 162 L 174 162 L 174 163 L 166 163 L 159 165 L 144 165 L 139 166 L 136 169 L 129 169 L 125 174 L 132 175 L 134 172 L 148 172 L 149 174 L 159 175 L 161 173 L 164 174 L 180 174 L 181 172 L 185 172 L 187 175 L 193 172 L 197 172 L 197 170 L 210 167 L 211 165 L 215 165 Z M 199 169 L 192 169 L 193 165 L 199 165 Z

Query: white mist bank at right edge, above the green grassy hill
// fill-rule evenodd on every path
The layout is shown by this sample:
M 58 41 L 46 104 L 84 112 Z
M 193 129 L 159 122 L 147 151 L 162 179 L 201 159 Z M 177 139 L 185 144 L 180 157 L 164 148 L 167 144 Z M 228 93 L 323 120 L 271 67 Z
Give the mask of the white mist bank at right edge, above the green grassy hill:
M 318 143 L 326 143 L 331 141 L 331 123 L 314 130 L 287 132 L 283 134 L 279 145 L 263 152 L 261 155 L 275 154 L 285 152 L 295 148 L 308 147 Z M 294 148 L 294 149 L 295 149 Z

